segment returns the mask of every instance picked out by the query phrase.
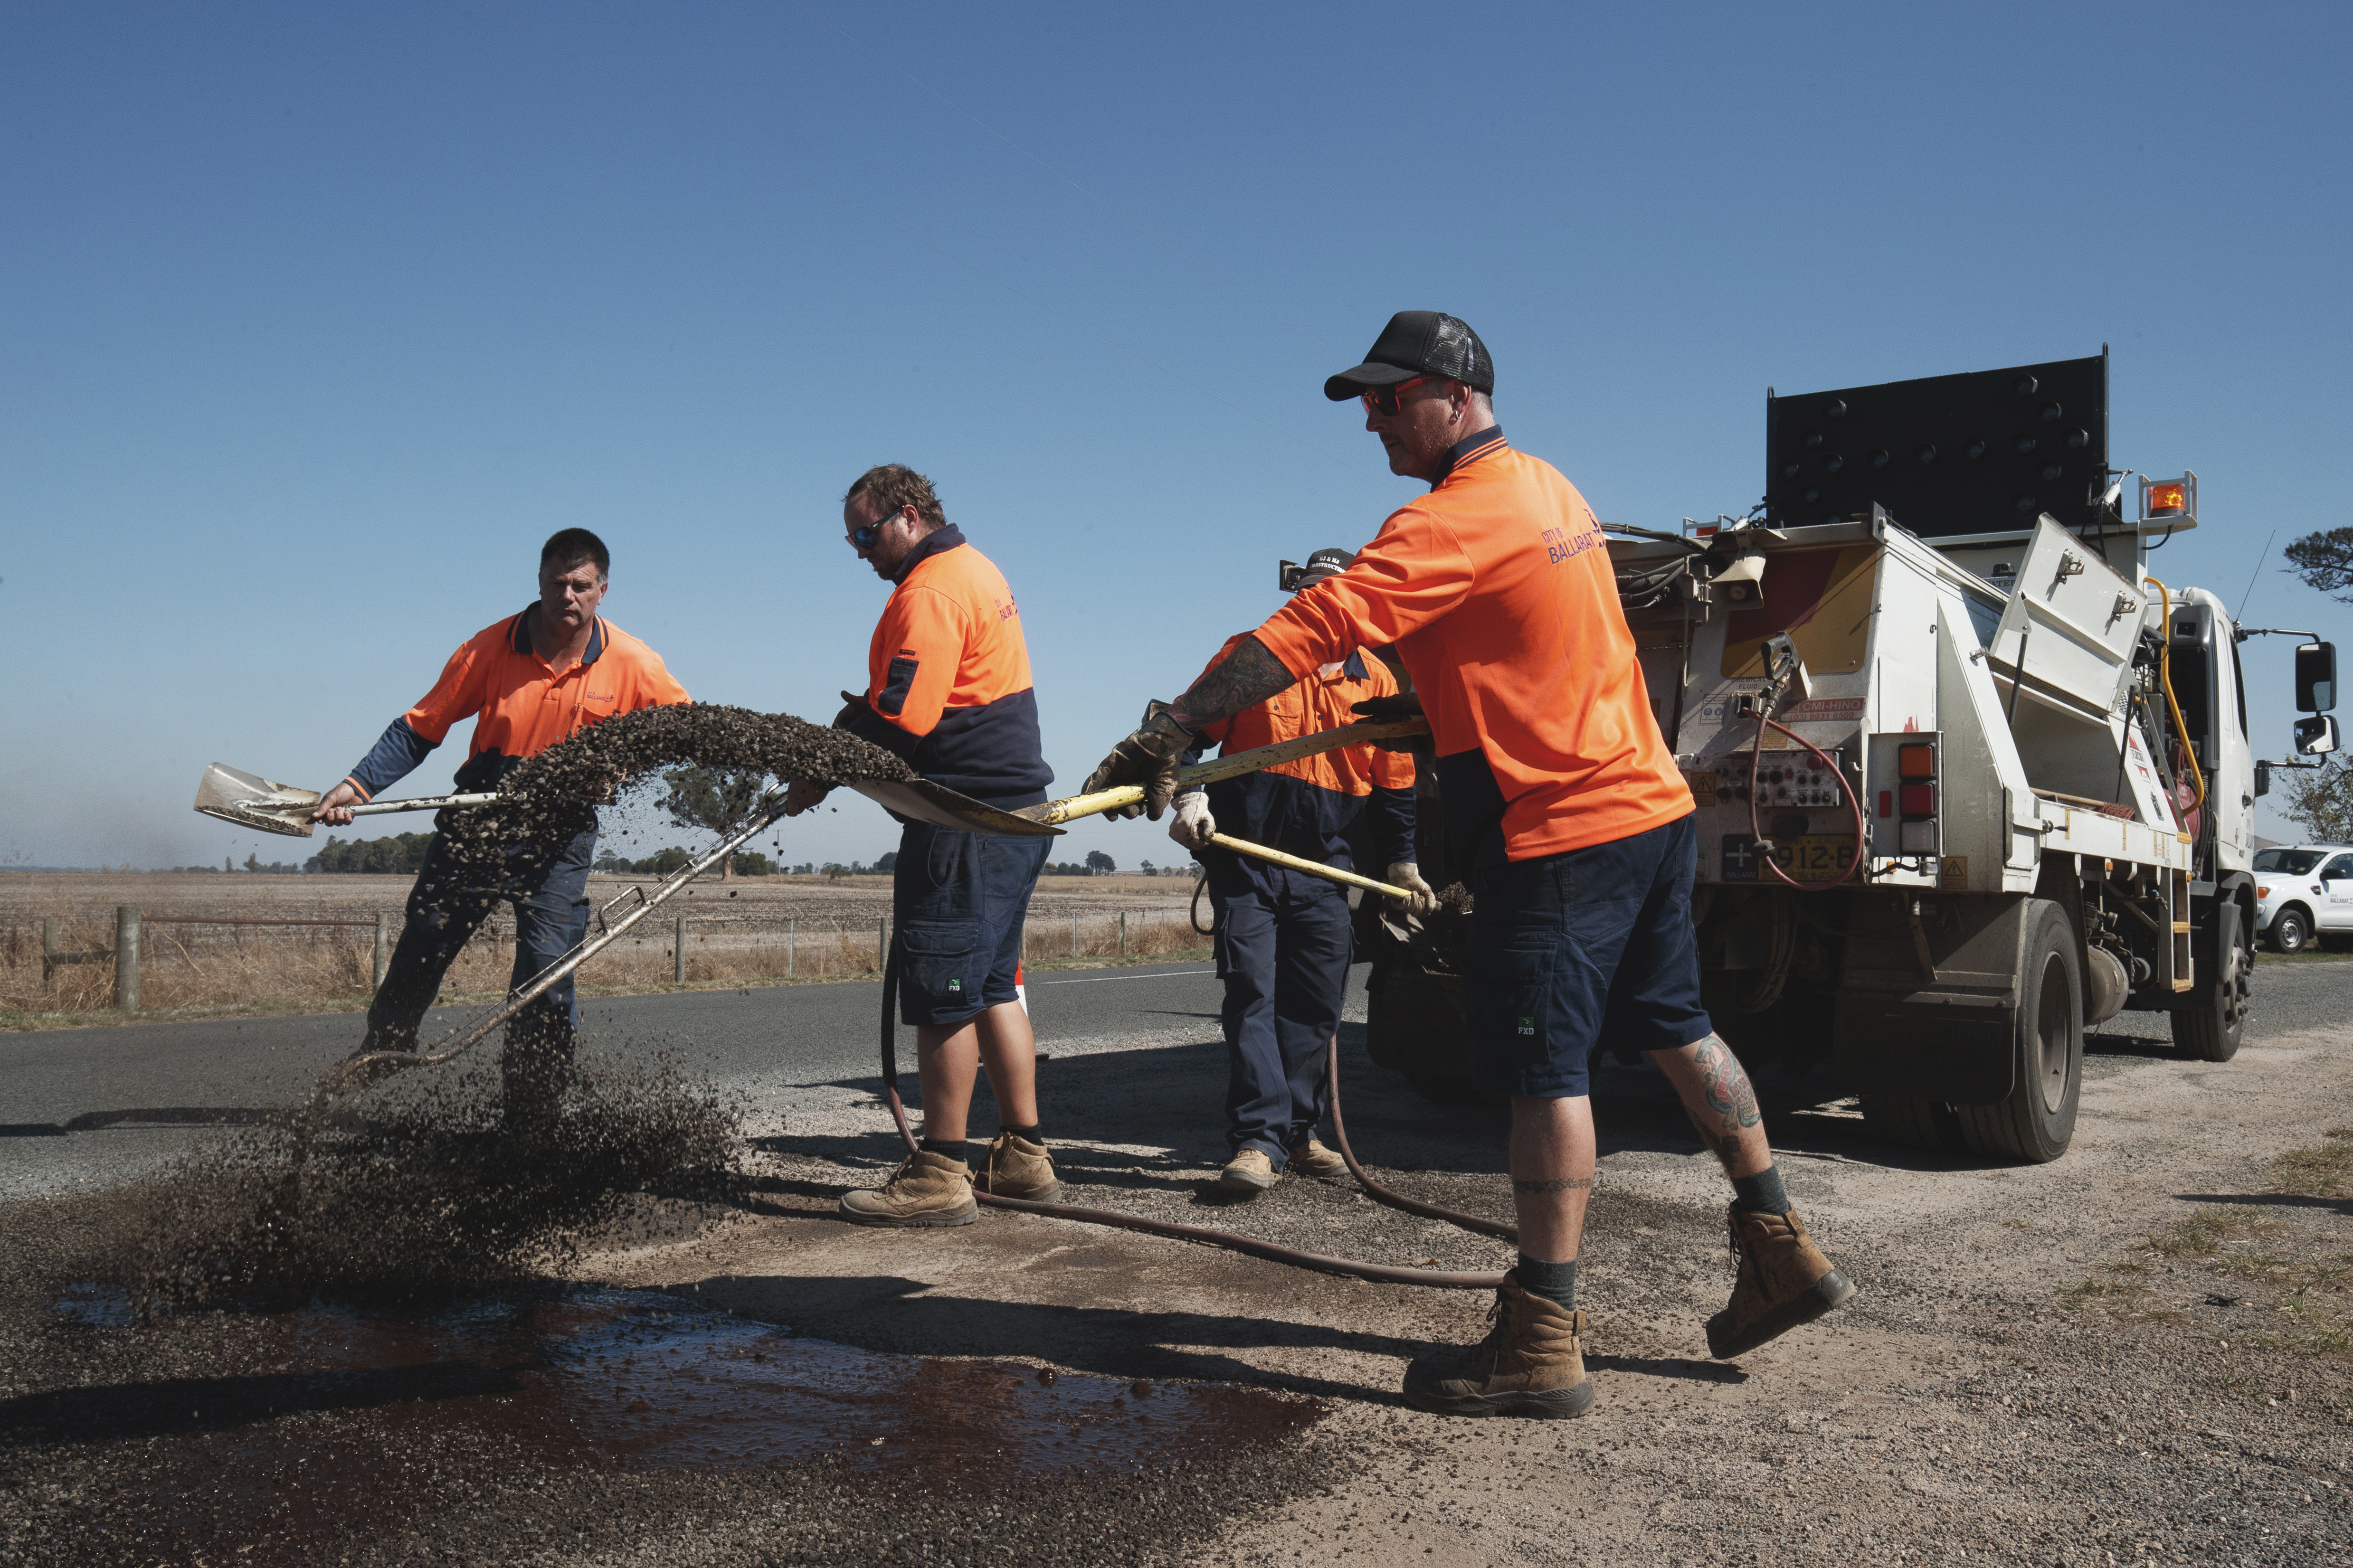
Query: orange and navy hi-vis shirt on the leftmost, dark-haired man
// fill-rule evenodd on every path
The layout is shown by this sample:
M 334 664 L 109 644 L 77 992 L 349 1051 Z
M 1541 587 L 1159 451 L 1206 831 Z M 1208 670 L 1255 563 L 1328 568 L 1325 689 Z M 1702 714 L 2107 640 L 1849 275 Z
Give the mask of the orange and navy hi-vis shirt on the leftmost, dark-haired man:
M 475 726 L 456 788 L 478 790 L 588 724 L 689 701 L 654 649 L 602 616 L 588 628 L 588 651 L 558 672 L 532 649 L 529 614 L 525 609 L 468 637 L 442 665 L 433 691 L 393 719 L 348 773 L 353 788 L 374 797 L 424 762 L 459 719 L 475 719 Z

